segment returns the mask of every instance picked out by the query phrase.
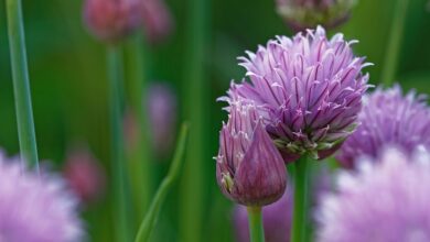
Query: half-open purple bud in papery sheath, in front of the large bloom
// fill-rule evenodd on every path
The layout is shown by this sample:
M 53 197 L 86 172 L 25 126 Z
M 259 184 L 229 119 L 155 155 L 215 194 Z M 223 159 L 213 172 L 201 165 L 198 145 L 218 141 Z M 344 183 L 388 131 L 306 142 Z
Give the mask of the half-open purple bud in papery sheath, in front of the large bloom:
M 278 200 L 287 185 L 282 157 L 261 124 L 258 107 L 236 100 L 223 124 L 216 178 L 229 199 L 245 206 Z

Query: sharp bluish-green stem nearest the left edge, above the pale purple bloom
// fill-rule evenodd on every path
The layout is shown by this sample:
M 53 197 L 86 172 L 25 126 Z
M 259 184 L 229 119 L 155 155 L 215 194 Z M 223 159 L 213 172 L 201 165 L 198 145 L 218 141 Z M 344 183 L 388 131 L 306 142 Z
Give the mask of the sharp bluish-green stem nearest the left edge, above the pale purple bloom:
M 21 0 L 7 0 L 7 11 L 21 157 L 39 172 Z

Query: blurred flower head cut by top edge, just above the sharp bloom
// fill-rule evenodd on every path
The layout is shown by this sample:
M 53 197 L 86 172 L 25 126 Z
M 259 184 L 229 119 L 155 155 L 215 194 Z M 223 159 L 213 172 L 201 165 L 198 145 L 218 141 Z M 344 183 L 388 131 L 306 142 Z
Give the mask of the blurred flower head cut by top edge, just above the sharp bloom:
M 345 22 L 356 0 L 277 0 L 278 13 L 295 31 L 318 24 L 335 28 Z

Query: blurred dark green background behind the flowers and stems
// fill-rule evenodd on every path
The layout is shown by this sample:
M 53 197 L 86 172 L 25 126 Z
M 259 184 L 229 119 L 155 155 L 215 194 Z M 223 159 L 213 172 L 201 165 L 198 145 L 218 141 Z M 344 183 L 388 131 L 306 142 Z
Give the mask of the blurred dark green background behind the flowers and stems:
M 375 64 L 368 67 L 370 81 L 379 81 L 388 31 L 396 0 L 359 0 L 350 21 L 334 30 L 347 40 L 359 40 L 357 55 Z M 430 94 L 430 10 L 427 0 L 410 0 L 402 37 L 396 80 L 407 89 Z M 164 42 L 151 46 L 150 79 L 165 80 L 175 88 L 183 113 L 187 87 L 183 66 L 187 62 L 185 26 L 190 3 L 169 0 L 174 32 Z M 50 160 L 61 169 L 66 151 L 75 144 L 87 144 L 109 173 L 109 123 L 105 46 L 94 40 L 82 21 L 80 0 L 24 0 L 24 23 L 36 139 L 41 160 Z M 9 64 L 4 3 L 0 4 L 0 146 L 9 154 L 19 151 Z M 270 0 L 216 0 L 209 6 L 211 29 L 205 55 L 205 157 L 204 199 L 201 241 L 233 241 L 230 215 L 233 204 L 223 197 L 215 180 L 218 130 L 226 113 L 216 98 L 223 96 L 232 79 L 240 79 L 244 69 L 236 57 L 255 51 L 275 35 L 290 35 L 276 14 Z M 207 92 L 207 91 L 206 91 Z M 191 110 L 192 111 L 192 110 Z M 173 134 L 172 134 L 173 135 Z M 154 163 L 153 184 L 159 184 L 169 162 Z M 154 188 L 153 188 L 154 189 Z M 104 199 L 83 211 L 92 241 L 114 241 L 111 190 Z M 169 195 L 152 241 L 179 241 L 180 186 Z

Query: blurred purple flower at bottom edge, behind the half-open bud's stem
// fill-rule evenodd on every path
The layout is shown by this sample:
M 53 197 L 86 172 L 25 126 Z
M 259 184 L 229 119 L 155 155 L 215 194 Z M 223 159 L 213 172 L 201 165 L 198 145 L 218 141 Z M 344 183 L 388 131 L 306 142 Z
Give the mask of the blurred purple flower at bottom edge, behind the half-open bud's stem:
M 266 242 L 290 241 L 292 198 L 292 189 L 290 186 L 287 186 L 287 190 L 281 199 L 262 208 Z M 234 224 L 237 242 L 250 241 L 246 207 L 235 207 Z

